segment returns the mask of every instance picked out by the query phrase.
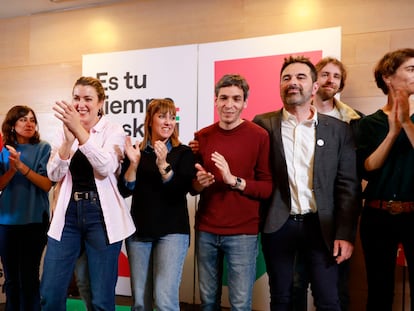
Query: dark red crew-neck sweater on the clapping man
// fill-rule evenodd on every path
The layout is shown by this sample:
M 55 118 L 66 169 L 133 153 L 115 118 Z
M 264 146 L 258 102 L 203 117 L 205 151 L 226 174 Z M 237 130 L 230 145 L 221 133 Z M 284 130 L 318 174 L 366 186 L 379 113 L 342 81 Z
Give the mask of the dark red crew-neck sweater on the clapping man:
M 195 139 L 200 164 L 215 177 L 215 183 L 200 194 L 196 229 L 221 235 L 257 234 L 260 200 L 272 192 L 268 133 L 245 120 L 232 130 L 214 123 L 195 133 Z M 211 161 L 214 151 L 224 156 L 233 175 L 246 180 L 243 192 L 223 182 Z

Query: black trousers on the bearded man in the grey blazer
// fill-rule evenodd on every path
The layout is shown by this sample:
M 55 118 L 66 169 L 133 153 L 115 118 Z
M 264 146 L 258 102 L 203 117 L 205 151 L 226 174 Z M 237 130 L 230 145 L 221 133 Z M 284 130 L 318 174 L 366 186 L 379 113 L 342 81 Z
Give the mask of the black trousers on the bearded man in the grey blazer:
M 291 310 L 297 252 L 305 261 L 317 310 L 340 311 L 338 265 L 323 240 L 317 214 L 302 221 L 289 218 L 280 230 L 262 234 L 262 249 L 269 276 L 271 311 Z

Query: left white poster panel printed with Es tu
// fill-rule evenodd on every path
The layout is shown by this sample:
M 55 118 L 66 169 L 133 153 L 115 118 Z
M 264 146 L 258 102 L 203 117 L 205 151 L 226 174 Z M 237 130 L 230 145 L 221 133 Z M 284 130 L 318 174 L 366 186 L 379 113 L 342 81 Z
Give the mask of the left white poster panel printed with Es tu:
M 188 144 L 196 130 L 197 45 L 175 46 L 83 56 L 82 74 L 97 77 L 105 87 L 104 111 L 123 125 L 127 135 L 142 140 L 147 105 L 152 98 L 171 98 L 177 107 L 180 140 Z M 130 204 L 130 200 L 128 200 Z M 189 196 L 194 219 L 195 197 Z M 193 222 L 190 222 L 193 226 Z M 181 285 L 182 300 L 193 297 L 193 239 Z M 125 247 L 119 258 L 119 295 L 130 295 L 129 265 Z

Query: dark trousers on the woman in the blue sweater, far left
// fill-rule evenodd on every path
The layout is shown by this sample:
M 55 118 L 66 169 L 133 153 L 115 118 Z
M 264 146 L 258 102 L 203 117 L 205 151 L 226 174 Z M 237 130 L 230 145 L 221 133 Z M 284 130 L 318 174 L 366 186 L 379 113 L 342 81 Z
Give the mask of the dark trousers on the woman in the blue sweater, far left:
M 39 267 L 47 241 L 43 224 L 0 225 L 6 311 L 40 310 Z

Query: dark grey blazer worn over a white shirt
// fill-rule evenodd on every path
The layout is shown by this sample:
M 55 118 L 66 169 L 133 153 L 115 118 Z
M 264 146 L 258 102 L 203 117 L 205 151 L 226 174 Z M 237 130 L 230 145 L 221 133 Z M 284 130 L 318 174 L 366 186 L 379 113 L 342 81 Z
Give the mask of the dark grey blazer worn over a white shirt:
M 281 120 L 282 110 L 257 115 L 253 120 L 270 137 L 274 190 L 263 211 L 265 233 L 279 230 L 291 210 Z M 318 114 L 315 142 L 313 191 L 322 234 L 331 250 L 334 240 L 355 240 L 360 211 L 355 144 L 347 123 L 323 114 Z

